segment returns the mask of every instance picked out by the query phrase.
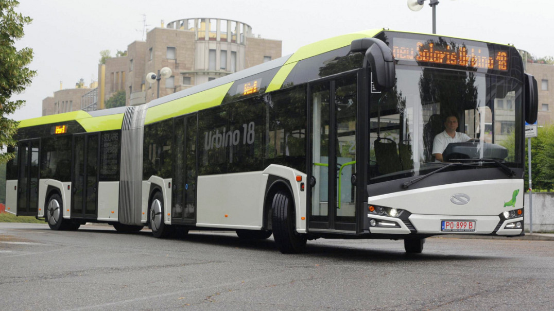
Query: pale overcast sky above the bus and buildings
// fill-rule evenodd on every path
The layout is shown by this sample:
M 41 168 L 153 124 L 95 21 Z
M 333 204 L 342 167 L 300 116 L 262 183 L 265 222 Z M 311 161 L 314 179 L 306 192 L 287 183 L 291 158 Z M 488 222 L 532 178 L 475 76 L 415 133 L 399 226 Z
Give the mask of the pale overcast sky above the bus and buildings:
M 406 0 L 19 0 L 20 12 L 33 18 L 17 47 L 30 47 L 37 76 L 23 94 L 27 101 L 16 120 L 42 114 L 42 100 L 63 88 L 98 79 L 100 50 L 126 50 L 147 29 L 182 18 L 225 18 L 252 26 L 255 35 L 283 41 L 283 55 L 302 45 L 358 30 L 432 32 L 432 9 L 408 9 Z M 511 43 L 537 56 L 554 55 L 552 0 L 441 0 L 437 33 Z M 146 37 L 144 37 L 146 38 Z

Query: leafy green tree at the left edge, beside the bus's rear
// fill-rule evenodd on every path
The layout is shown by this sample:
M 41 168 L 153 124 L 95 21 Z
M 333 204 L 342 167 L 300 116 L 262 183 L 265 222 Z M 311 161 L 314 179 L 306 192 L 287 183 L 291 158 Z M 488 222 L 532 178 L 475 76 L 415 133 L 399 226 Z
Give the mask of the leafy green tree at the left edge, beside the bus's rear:
M 14 47 L 16 40 L 23 38 L 23 26 L 32 22 L 30 17 L 14 11 L 17 6 L 16 0 L 0 0 L 0 150 L 16 145 L 13 135 L 19 122 L 7 116 L 25 104 L 24 100 L 11 100 L 11 97 L 25 90 L 37 74 L 27 67 L 33 60 L 33 49 Z M 0 163 L 14 156 L 13 152 L 0 153 Z

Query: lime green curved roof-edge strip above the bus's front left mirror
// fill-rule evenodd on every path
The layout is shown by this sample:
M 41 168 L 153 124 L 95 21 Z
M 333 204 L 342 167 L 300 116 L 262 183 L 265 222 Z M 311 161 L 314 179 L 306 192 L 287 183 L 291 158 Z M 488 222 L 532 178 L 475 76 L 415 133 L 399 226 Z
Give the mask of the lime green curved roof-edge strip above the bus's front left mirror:
M 338 37 L 329 38 L 312 44 L 304 45 L 304 47 L 299 48 L 296 53 L 294 53 L 293 56 L 291 56 L 289 60 L 286 61 L 285 65 L 295 63 L 299 60 L 306 59 L 315 55 L 326 53 L 331 50 L 346 47 L 347 45 L 350 45 L 350 43 L 352 43 L 352 40 L 374 37 L 382 31 L 383 29 L 365 30 L 351 34 L 339 35 Z

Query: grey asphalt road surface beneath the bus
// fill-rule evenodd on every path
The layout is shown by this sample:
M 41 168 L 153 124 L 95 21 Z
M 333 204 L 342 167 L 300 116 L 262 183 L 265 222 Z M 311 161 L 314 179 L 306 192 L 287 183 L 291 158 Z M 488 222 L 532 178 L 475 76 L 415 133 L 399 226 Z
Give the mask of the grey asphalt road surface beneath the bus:
M 554 242 L 429 238 L 309 241 L 191 232 L 155 239 L 0 223 L 2 310 L 550 310 Z

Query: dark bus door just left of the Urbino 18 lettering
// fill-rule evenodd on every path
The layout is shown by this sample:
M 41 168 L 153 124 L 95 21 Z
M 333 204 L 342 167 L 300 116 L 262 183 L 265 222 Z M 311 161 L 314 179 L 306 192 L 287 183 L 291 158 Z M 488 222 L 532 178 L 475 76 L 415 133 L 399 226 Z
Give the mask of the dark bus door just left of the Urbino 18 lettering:
M 173 119 L 171 223 L 196 223 L 196 114 Z

